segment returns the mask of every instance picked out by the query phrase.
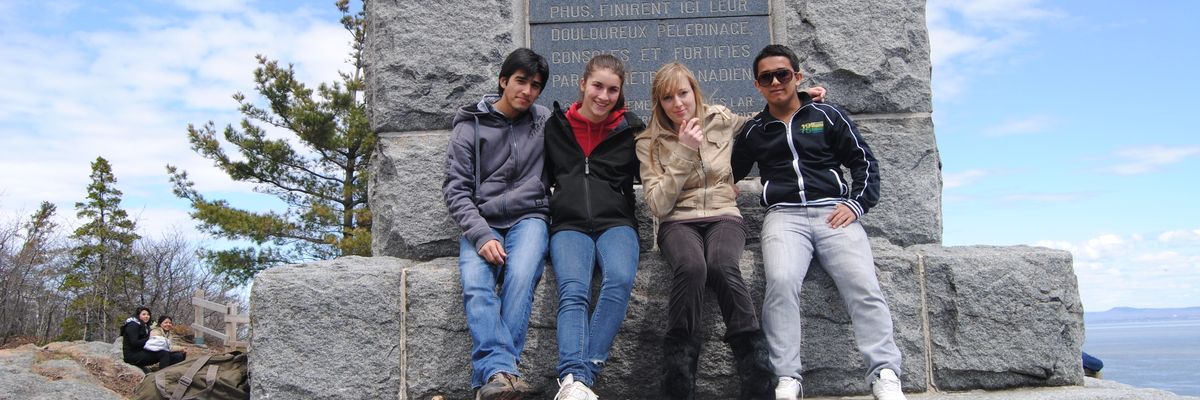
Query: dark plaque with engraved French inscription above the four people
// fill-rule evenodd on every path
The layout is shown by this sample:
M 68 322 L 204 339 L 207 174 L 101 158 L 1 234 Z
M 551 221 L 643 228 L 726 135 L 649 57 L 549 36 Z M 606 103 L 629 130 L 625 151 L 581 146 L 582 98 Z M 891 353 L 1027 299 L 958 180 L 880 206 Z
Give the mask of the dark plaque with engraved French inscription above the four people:
M 754 56 L 770 44 L 767 0 L 529 1 L 529 43 L 550 61 L 541 103 L 578 98 L 583 66 L 596 54 L 626 65 L 626 108 L 648 119 L 650 84 L 666 62 L 696 74 L 706 100 L 736 113 L 762 109 Z

